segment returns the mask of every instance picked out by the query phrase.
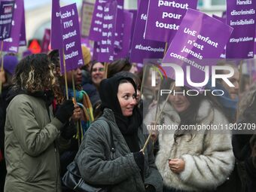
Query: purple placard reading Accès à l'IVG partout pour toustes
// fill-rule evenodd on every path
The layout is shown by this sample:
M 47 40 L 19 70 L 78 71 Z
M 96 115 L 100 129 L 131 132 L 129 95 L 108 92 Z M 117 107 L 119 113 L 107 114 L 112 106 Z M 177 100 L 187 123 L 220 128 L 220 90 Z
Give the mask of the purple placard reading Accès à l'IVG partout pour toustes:
M 81 50 L 78 9 L 74 3 L 60 8 L 60 13 L 62 18 L 62 44 L 65 54 L 66 71 L 68 72 L 84 64 Z M 59 51 L 59 53 L 62 57 L 62 51 Z

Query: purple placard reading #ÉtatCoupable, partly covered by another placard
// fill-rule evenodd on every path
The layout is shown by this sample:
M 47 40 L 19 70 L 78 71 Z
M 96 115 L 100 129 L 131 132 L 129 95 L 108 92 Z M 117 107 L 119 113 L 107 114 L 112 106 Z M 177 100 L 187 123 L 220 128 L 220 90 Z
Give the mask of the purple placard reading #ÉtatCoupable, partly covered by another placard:
M 163 58 L 165 44 L 143 38 L 147 19 L 148 0 L 141 1 L 133 33 L 130 62 L 143 62 L 143 59 Z

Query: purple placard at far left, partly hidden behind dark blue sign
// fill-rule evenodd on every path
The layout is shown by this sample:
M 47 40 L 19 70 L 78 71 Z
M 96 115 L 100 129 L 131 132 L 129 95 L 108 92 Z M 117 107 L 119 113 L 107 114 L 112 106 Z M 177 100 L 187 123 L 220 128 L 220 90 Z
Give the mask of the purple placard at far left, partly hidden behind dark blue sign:
M 20 29 L 22 24 L 22 16 L 24 11 L 23 0 L 15 2 L 14 16 L 12 21 L 12 29 L 10 38 L 6 38 L 3 44 L 3 50 L 7 52 L 17 53 L 20 45 Z

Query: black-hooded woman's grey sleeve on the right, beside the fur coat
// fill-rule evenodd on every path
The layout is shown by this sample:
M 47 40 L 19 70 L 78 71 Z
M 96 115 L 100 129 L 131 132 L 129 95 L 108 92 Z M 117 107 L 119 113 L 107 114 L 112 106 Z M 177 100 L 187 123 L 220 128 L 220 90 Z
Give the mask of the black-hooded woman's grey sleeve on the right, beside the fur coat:
M 148 143 L 148 169 L 149 175 L 145 178 L 145 184 L 151 184 L 156 189 L 156 192 L 163 191 L 163 178 L 157 170 L 154 163 L 153 144 Z

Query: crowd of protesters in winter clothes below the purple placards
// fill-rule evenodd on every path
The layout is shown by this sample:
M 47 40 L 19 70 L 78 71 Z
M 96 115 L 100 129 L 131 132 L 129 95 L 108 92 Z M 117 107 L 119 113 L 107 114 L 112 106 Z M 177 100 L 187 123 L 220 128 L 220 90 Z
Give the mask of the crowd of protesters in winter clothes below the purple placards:
M 91 60 L 87 47 L 82 52 L 84 66 L 67 72 L 66 80 L 58 50 L 20 62 L 4 56 L 0 191 L 76 191 L 62 183 L 72 163 L 84 182 L 108 186 L 108 191 L 256 191 L 255 132 L 181 129 L 256 123 L 256 88 L 252 84 L 239 99 L 238 69 L 218 63 L 235 71 L 230 78 L 234 87 L 216 84 L 223 96 L 167 94 L 157 99 L 159 89 L 181 93 L 189 88 L 175 87 L 170 79 L 151 87 L 151 69 L 142 77 L 129 59 L 107 67 Z M 161 124 L 178 129 L 147 130 L 146 125 Z

